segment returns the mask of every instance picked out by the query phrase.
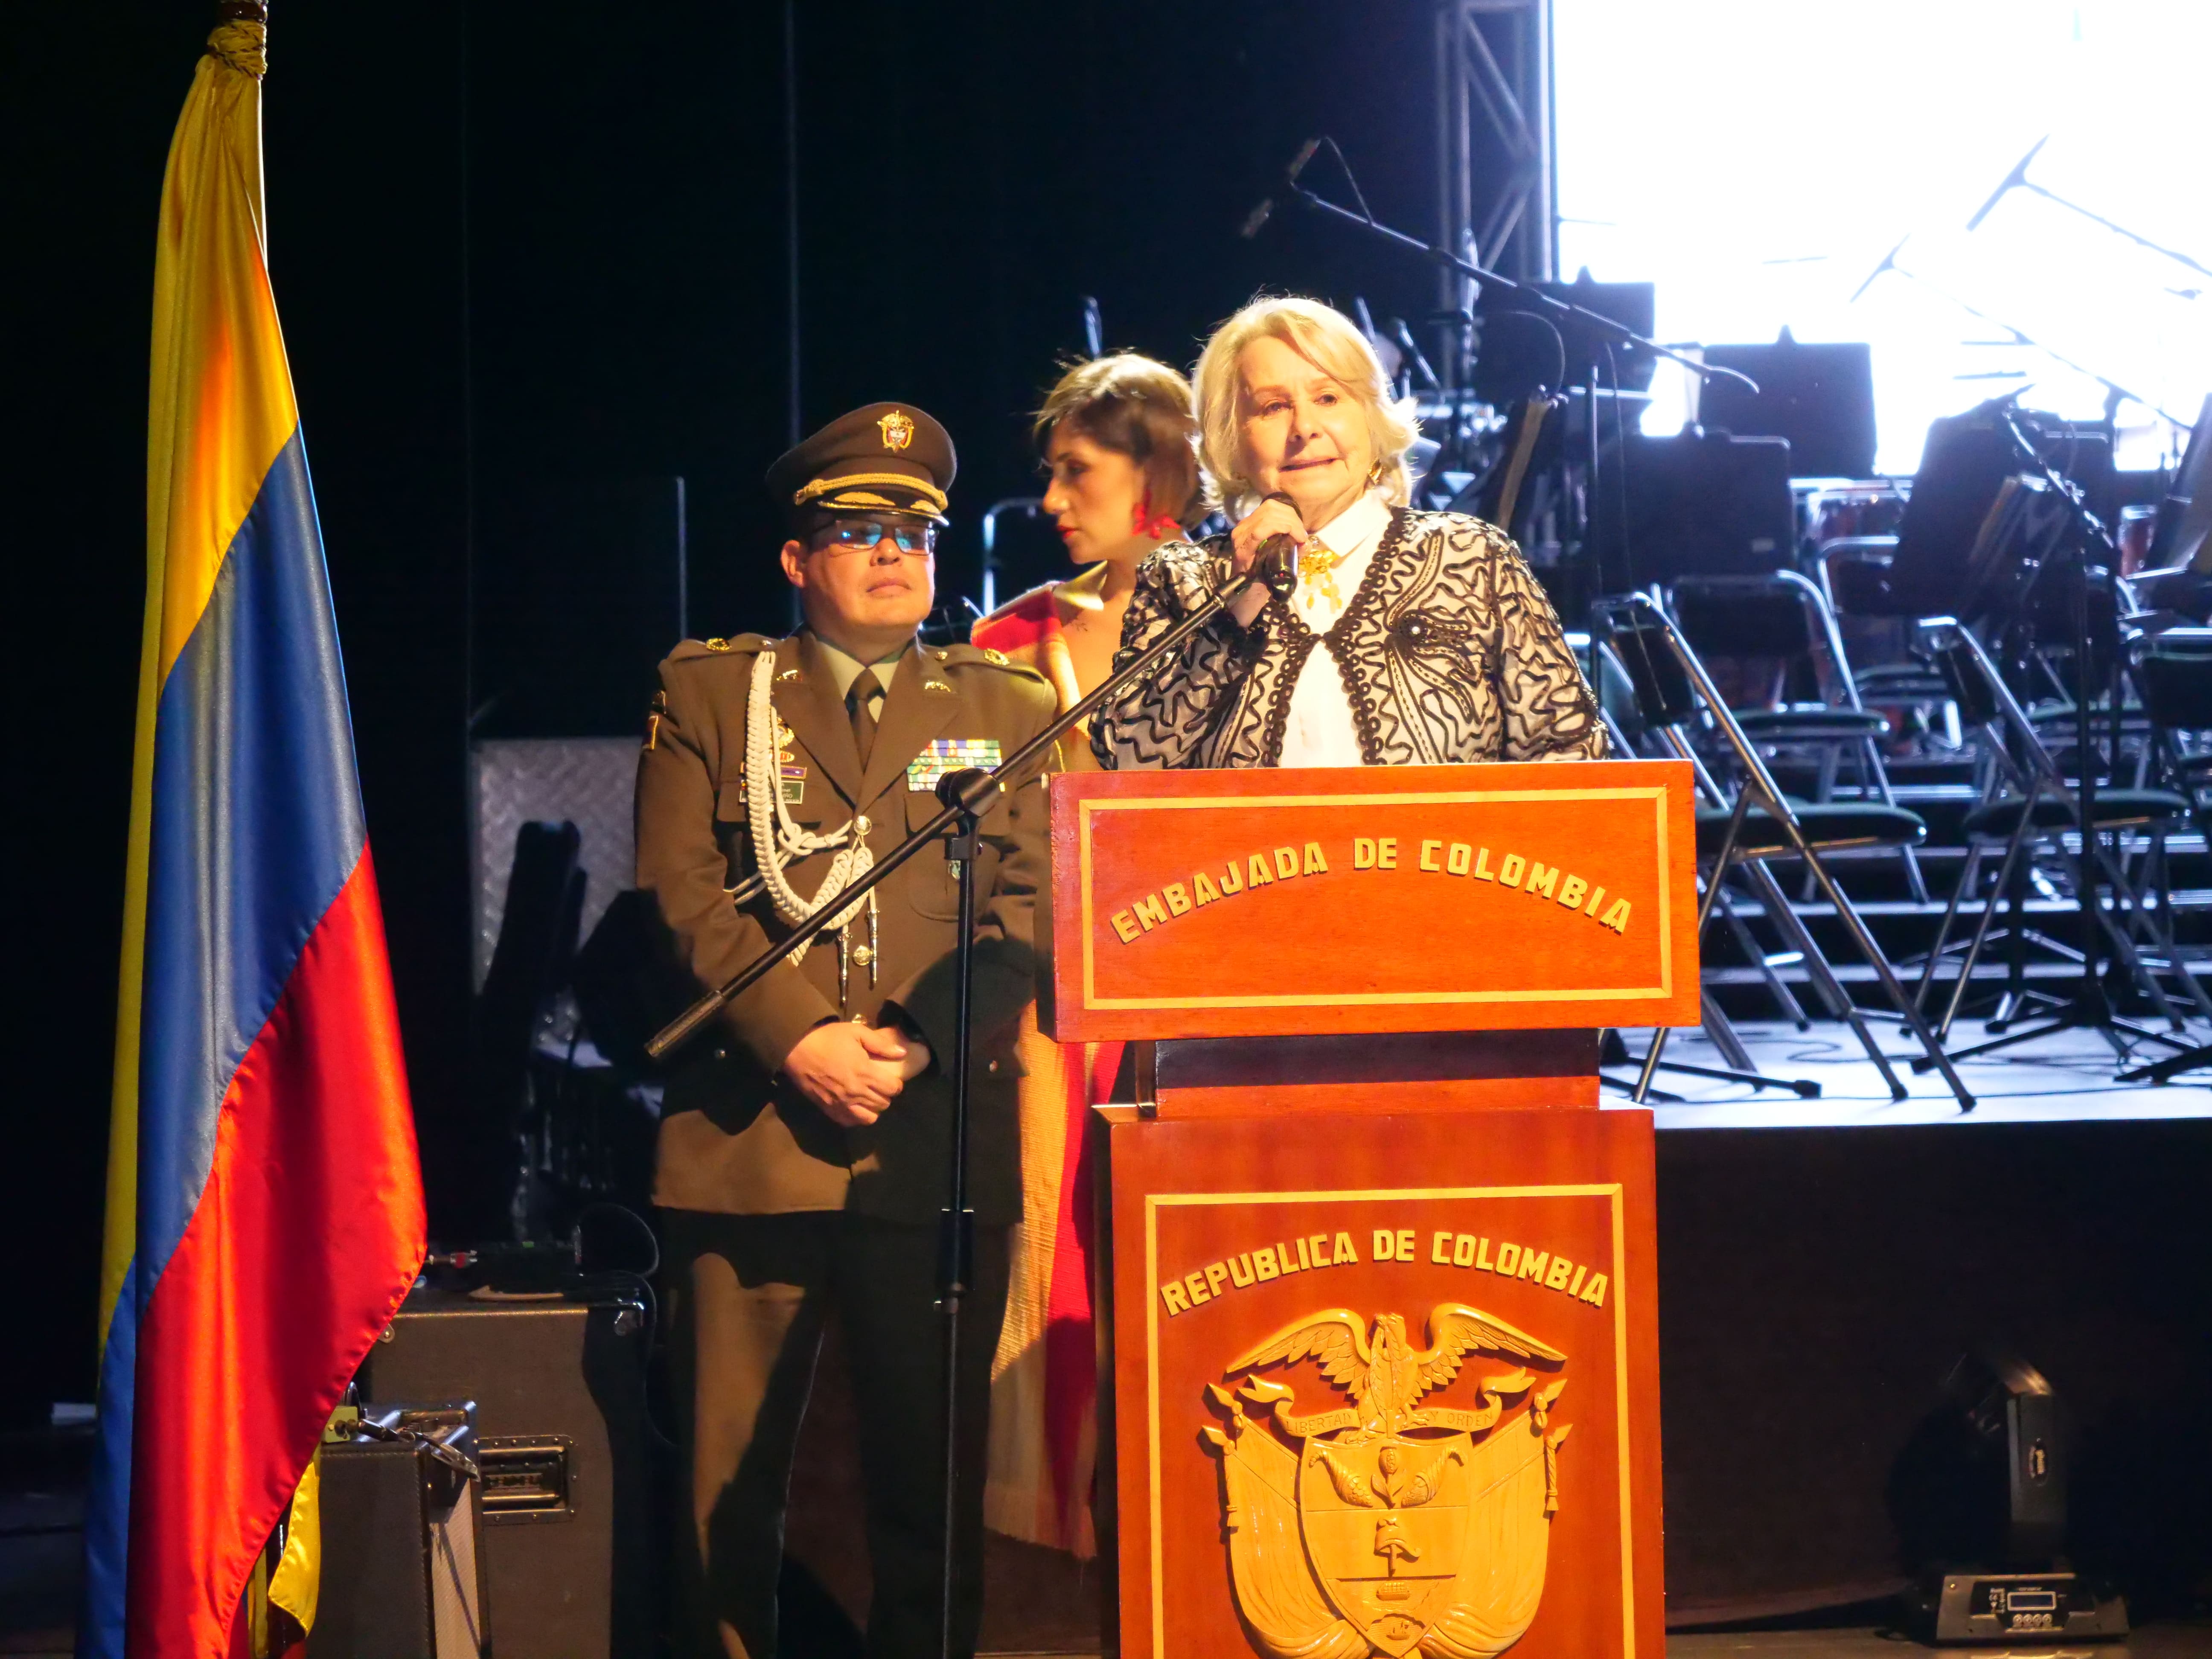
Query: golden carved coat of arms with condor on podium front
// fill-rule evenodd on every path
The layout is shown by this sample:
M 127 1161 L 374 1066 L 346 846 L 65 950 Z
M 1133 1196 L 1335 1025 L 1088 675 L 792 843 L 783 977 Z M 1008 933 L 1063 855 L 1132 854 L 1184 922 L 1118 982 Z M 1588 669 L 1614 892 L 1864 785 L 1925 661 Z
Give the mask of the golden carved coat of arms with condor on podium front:
M 1493 1659 L 1528 1630 L 1559 1509 L 1566 1354 L 1462 1303 L 1292 1321 L 1208 1385 L 1230 1579 L 1267 1659 Z M 1511 1363 L 1475 1402 L 1420 1405 L 1467 1356 Z M 1312 1360 L 1352 1405 L 1301 1413 L 1256 1367 Z M 1533 1369 L 1531 1369 L 1533 1367 Z

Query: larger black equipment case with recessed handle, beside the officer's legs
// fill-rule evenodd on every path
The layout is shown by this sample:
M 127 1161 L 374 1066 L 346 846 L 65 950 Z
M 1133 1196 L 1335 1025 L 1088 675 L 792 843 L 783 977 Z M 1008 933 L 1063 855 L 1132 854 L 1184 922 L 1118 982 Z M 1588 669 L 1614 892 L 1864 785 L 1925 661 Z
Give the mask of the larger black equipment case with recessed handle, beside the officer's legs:
M 418 1290 L 372 1349 L 363 1394 L 476 1402 L 500 1659 L 650 1650 L 661 1506 L 646 1316 L 628 1292 L 484 1301 Z

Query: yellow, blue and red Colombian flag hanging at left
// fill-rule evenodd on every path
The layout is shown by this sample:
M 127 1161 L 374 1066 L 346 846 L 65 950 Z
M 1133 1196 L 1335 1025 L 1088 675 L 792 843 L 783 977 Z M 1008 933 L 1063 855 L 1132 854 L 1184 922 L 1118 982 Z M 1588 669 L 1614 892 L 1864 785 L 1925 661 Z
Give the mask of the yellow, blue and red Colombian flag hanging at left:
M 155 254 L 146 635 L 108 1146 L 95 1659 L 212 1659 L 422 1261 L 400 1035 L 226 0 Z

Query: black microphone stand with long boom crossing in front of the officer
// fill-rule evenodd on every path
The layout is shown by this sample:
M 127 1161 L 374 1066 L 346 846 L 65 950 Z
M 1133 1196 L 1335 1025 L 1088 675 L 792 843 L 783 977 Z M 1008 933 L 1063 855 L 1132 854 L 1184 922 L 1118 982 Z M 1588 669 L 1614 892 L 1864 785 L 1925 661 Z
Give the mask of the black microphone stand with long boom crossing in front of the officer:
M 655 1060 L 661 1060 L 670 1051 L 679 1048 L 734 998 L 759 984 L 779 962 L 823 933 L 830 927 L 832 916 L 838 916 L 847 905 L 852 905 L 852 900 L 880 887 L 894 869 L 914 858 L 931 841 L 945 841 L 945 856 L 951 860 L 953 874 L 960 880 L 960 936 L 953 945 L 953 1009 L 958 1035 L 953 1037 L 951 1053 L 951 1168 L 947 1170 L 945 1183 L 947 1206 L 938 1219 L 938 1307 L 945 1310 L 945 1582 L 938 1610 L 938 1644 L 945 1659 L 951 1659 L 953 1655 L 953 1511 L 958 1504 L 960 1480 L 960 1303 L 967 1298 L 975 1270 L 975 1212 L 967 1201 L 967 1144 L 969 998 L 975 980 L 975 858 L 982 852 L 980 823 L 993 801 L 1029 781 L 1026 774 L 1053 754 L 1053 748 L 1077 726 L 1077 721 L 1113 697 L 1119 697 L 1130 684 L 1181 648 L 1190 635 L 1243 599 L 1254 586 L 1263 586 L 1276 597 L 1290 597 L 1296 582 L 1298 573 L 1294 557 L 1283 551 L 1263 549 L 1261 560 L 1250 575 L 1243 575 L 1219 593 L 1208 595 L 1203 604 L 1168 628 L 1148 650 L 1130 657 L 1130 661 L 1108 675 L 1097 690 L 1060 714 L 1051 726 L 1022 743 L 1022 748 L 995 768 L 971 768 L 940 779 L 938 801 L 942 801 L 942 807 L 929 823 L 900 841 L 885 858 L 876 860 L 876 865 L 860 876 L 860 880 L 838 894 L 836 902 L 807 916 L 807 920 L 799 922 L 783 938 L 783 942 L 761 951 L 761 956 L 754 958 L 743 971 L 692 1002 L 690 1009 L 670 1020 L 646 1044 L 646 1053 Z

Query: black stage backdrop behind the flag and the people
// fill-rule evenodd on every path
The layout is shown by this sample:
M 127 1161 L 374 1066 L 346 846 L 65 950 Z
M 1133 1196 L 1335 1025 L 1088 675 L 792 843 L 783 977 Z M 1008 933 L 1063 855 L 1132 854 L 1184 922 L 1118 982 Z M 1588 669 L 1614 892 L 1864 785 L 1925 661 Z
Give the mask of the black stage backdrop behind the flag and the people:
M 1420 4 L 799 11 L 801 416 L 907 398 L 947 422 L 962 462 L 947 591 L 975 591 L 982 509 L 1035 491 L 1024 411 L 1082 349 L 1084 294 L 1110 345 L 1188 363 L 1261 283 L 1349 301 L 1358 281 L 1413 316 L 1431 292 L 1413 265 L 1356 276 L 1325 232 L 1234 234 L 1321 131 L 1358 159 L 1378 212 L 1427 221 Z M 11 814 L 9 931 L 35 940 L 35 971 L 13 998 L 0 1225 L 9 1259 L 38 1263 L 18 1281 L 38 1340 L 0 1367 L 7 1420 L 93 1389 L 153 223 L 210 13 L 100 7 L 66 51 L 24 55 L 7 95 L 31 215 L 11 261 L 7 453 L 33 566 L 13 653 L 29 810 Z M 440 1177 L 467 1040 L 467 714 L 484 730 L 533 717 L 482 708 L 471 604 L 484 655 L 526 653 L 518 633 L 560 626 L 564 593 L 608 582 L 604 546 L 518 551 L 500 504 L 681 476 L 692 630 L 787 619 L 759 482 L 790 407 L 781 86 L 774 4 L 272 13 L 270 263 L 434 1210 L 453 1201 Z M 471 595 L 478 509 L 491 549 Z M 586 717 L 606 723 L 613 703 L 617 730 L 641 719 L 672 641 L 672 617 L 597 648 L 586 635 L 564 666 L 613 686 Z

